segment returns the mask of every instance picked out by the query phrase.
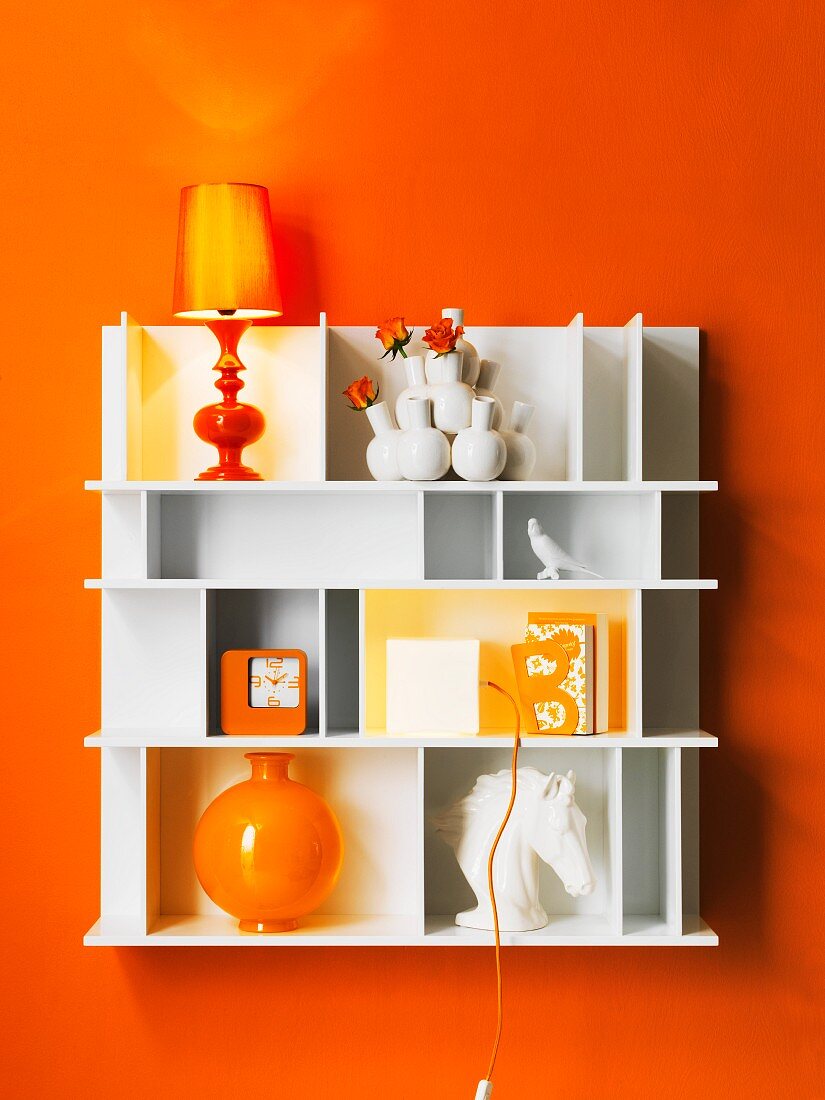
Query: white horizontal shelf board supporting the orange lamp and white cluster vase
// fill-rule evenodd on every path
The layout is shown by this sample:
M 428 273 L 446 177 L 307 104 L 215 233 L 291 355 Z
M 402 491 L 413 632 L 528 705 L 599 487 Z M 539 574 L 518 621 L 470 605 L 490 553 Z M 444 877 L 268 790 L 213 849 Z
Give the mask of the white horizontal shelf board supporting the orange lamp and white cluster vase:
M 196 482 L 87 481 L 100 493 L 714 493 L 715 481 L 554 481 L 554 482 Z

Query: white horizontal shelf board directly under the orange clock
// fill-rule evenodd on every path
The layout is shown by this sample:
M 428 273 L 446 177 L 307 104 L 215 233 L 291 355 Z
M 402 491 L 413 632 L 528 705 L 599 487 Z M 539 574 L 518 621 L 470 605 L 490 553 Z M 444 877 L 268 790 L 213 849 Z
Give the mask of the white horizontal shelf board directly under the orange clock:
M 87 748 L 234 748 L 234 749 L 349 749 L 349 748 L 509 748 L 513 735 L 491 733 L 468 737 L 411 737 L 387 734 L 337 733 L 321 737 L 317 733 L 300 737 L 229 737 L 226 734 L 204 737 L 187 729 L 110 729 L 89 735 Z M 520 738 L 521 748 L 715 748 L 718 738 L 702 729 L 656 730 L 631 734 L 619 730 L 592 737 L 547 737 L 528 735 Z

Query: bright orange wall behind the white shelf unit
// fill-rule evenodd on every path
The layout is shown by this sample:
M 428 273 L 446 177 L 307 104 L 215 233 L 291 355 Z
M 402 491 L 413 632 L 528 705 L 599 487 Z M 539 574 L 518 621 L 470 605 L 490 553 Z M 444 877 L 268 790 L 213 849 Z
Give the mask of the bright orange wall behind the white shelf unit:
M 222 178 L 271 188 L 293 323 L 459 301 L 471 323 L 705 330 L 723 946 L 508 953 L 496 1097 L 821 1094 L 822 24 L 814 0 L 6 6 L 6 1094 L 453 1100 L 486 1064 L 485 952 L 80 946 L 99 326 L 168 320 L 178 188 Z

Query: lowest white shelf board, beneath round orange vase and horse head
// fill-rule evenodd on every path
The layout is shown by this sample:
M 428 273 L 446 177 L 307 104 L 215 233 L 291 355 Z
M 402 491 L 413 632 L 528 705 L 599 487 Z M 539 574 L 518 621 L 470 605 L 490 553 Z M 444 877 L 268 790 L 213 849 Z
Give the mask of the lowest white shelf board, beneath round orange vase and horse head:
M 625 919 L 627 922 L 627 917 Z M 671 947 L 715 946 L 718 936 L 695 919 L 685 935 L 674 935 L 656 917 L 639 931 L 617 935 L 603 916 L 553 916 L 536 932 L 503 932 L 504 947 Z M 273 935 L 241 932 L 230 916 L 161 916 L 148 933 L 140 922 L 103 917 L 89 930 L 90 947 L 486 947 L 492 932 L 459 928 L 452 916 L 428 916 L 425 934 L 414 916 L 309 916 L 295 932 Z

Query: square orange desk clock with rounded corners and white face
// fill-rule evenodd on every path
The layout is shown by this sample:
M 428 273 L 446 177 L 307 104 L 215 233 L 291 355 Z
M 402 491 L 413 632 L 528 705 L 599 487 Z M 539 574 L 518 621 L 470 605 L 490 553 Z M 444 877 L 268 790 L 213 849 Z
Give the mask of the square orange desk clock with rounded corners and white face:
M 224 734 L 302 734 L 307 654 L 300 649 L 228 649 L 221 657 Z

